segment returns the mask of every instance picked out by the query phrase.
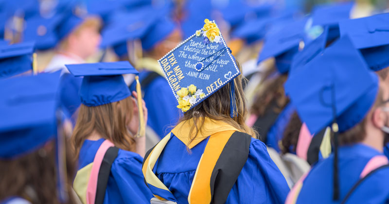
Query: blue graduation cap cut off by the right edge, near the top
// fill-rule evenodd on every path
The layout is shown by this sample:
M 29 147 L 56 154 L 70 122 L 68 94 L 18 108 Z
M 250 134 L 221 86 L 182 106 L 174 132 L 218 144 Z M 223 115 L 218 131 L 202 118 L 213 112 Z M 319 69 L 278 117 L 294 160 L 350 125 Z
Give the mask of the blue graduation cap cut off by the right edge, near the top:
M 339 22 L 340 34 L 349 35 L 371 70 L 389 66 L 389 13 Z

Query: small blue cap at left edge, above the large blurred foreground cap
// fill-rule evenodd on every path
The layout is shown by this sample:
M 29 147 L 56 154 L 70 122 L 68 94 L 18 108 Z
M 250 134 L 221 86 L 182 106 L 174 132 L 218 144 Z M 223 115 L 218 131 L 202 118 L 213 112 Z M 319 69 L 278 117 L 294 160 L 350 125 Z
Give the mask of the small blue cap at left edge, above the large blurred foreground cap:
M 0 46 L 0 79 L 33 70 L 34 43 Z

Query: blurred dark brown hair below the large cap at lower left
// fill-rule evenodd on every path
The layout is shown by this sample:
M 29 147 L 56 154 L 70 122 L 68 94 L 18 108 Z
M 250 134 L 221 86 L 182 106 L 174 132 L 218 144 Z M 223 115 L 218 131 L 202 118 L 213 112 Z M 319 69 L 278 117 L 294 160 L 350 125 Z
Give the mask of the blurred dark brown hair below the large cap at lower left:
M 0 159 L 0 201 L 10 196 L 29 200 L 32 204 L 60 204 L 55 165 L 55 143 L 50 141 L 32 153 L 15 159 Z M 66 145 L 69 147 L 69 145 Z M 75 164 L 70 149 L 66 150 L 67 187 L 71 192 Z M 68 193 L 67 204 L 74 204 Z

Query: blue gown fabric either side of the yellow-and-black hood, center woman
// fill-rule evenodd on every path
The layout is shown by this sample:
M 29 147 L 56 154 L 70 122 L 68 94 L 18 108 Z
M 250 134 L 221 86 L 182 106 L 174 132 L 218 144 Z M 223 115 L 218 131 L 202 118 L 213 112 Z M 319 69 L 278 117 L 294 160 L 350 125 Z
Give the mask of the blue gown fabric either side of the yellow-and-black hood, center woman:
M 154 167 L 159 180 L 169 188 L 179 204 L 188 204 L 195 170 L 207 142 L 208 138 L 188 153 L 186 145 L 172 135 Z M 283 204 L 288 191 L 289 187 L 267 153 L 265 144 L 252 138 L 248 160 L 226 203 L 248 204 L 255 201 L 257 204 Z

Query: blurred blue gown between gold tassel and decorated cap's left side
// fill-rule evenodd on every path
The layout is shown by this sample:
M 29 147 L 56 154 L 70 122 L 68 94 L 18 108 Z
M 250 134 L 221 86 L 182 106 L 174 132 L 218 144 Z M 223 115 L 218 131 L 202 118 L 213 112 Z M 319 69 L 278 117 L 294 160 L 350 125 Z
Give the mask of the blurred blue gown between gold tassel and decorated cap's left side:
M 150 71 L 143 70 L 139 73 L 139 81 L 142 82 L 150 74 Z M 154 132 L 163 138 L 172 130 L 171 126 L 177 124 L 179 117 L 182 115 L 177 108 L 177 100 L 172 94 L 172 89 L 162 76 L 155 78 L 146 87 L 141 87 L 143 100 L 146 103 L 148 111 L 147 125 L 151 127 Z M 136 83 L 134 82 L 130 89 L 136 90 Z

